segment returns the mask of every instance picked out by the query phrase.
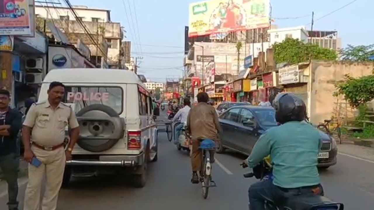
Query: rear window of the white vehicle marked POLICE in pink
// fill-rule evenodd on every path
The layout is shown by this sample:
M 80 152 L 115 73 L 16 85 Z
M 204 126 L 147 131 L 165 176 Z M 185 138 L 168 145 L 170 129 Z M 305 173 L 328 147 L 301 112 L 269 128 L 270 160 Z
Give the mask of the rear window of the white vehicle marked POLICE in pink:
M 92 104 L 104 104 L 121 114 L 123 110 L 123 90 L 120 87 L 67 86 L 64 102 L 74 104 L 72 108 L 76 113 Z

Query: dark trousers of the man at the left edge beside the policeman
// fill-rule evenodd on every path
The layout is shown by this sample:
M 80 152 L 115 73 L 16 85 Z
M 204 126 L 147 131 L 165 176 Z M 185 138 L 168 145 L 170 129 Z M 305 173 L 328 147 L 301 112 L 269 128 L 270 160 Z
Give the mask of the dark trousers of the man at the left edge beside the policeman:
M 17 154 L 9 154 L 0 156 L 0 168 L 3 172 L 3 178 L 8 184 L 8 197 L 9 202 L 7 203 L 10 210 L 18 208 L 18 170 L 19 170 L 19 158 Z

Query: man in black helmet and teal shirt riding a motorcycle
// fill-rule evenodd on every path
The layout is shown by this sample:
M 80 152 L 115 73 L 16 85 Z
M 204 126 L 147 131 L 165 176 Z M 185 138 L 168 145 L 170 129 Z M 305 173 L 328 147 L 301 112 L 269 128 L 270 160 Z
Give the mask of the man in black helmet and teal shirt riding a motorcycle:
M 270 155 L 274 178 L 251 185 L 250 210 L 264 210 L 265 198 L 280 205 L 295 194 L 322 194 L 317 170 L 322 138 L 316 128 L 304 121 L 304 102 L 291 93 L 279 93 L 272 105 L 281 125 L 261 135 L 243 163 L 254 168 Z

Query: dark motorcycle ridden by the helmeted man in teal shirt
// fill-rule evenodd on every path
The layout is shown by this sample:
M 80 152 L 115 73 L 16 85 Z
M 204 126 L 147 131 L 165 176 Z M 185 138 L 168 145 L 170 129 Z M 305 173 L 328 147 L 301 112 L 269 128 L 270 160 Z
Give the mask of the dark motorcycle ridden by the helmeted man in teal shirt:
M 246 164 L 240 164 L 243 168 Z M 256 177 L 260 181 L 273 180 L 273 168 L 270 164 L 270 158 L 264 158 L 258 166 L 253 168 L 253 172 L 245 173 L 245 178 Z M 322 188 L 322 186 L 321 186 Z M 264 198 L 264 207 L 266 210 L 344 210 L 344 204 L 335 203 L 322 195 L 303 195 L 295 194 L 284 201 L 284 205 L 278 206 L 273 201 Z

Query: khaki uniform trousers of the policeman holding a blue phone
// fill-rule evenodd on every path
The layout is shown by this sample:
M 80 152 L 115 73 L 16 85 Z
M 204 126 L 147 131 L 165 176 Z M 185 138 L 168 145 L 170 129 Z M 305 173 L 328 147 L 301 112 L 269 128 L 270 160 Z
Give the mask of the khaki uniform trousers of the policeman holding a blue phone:
M 28 166 L 29 179 L 25 192 L 24 210 L 40 209 L 40 195 L 44 175 L 46 176 L 46 189 L 42 200 L 42 210 L 55 210 L 65 170 L 66 157 L 64 147 L 46 151 L 32 146 L 31 150 L 42 161 L 42 164 L 39 167 L 31 164 Z

